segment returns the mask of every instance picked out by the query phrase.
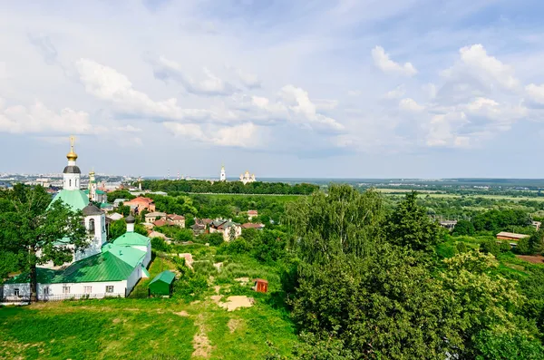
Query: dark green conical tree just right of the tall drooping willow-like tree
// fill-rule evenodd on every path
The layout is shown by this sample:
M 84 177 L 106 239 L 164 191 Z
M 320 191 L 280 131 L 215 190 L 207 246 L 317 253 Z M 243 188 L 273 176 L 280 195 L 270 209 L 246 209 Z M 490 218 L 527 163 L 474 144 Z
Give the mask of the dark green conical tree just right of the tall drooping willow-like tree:
M 428 252 L 438 243 L 440 228 L 417 204 L 417 193 L 412 191 L 387 217 L 385 238 L 401 247 Z

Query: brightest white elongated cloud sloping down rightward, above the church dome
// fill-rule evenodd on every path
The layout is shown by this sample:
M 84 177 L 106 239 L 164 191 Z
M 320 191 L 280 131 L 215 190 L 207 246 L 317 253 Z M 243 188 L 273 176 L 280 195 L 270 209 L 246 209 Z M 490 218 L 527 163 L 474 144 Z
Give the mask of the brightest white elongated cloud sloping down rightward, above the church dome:
M 132 88 L 130 80 L 111 67 L 89 59 L 75 63 L 86 92 L 112 104 L 121 112 L 171 120 L 202 120 L 209 112 L 181 109 L 175 98 L 156 102 L 144 92 Z

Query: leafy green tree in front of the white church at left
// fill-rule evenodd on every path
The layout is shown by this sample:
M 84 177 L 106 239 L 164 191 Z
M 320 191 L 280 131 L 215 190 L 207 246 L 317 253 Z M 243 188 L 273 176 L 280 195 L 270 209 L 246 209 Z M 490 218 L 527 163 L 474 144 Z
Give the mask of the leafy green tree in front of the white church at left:
M 72 261 L 73 252 L 87 245 L 89 235 L 81 212 L 61 201 L 47 208 L 51 197 L 41 186 L 16 185 L 10 200 L 13 209 L 0 214 L 0 248 L 24 259 L 21 265 L 30 272 L 31 301 L 36 301 L 36 266 L 49 261 L 54 265 Z

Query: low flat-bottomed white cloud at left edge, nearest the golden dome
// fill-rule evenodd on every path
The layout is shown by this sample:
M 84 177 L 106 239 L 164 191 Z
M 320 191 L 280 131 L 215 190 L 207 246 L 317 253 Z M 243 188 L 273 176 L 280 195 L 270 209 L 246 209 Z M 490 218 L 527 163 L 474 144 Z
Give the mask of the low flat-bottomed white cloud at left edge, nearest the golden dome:
M 64 108 L 57 113 L 48 109 L 42 102 L 35 102 L 29 107 L 16 105 L 3 109 L 0 106 L 0 131 L 95 134 L 106 130 L 103 126 L 92 125 L 87 112 Z

